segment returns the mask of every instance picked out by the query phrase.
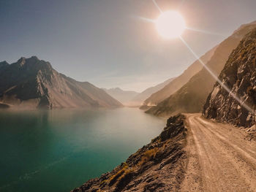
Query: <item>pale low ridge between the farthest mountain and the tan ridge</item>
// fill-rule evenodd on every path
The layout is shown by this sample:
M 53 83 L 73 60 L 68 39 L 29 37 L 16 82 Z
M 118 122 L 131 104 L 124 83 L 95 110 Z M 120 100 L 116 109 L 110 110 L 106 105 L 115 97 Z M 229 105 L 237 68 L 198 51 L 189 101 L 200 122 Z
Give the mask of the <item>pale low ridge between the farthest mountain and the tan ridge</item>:
M 129 105 L 132 106 L 141 106 L 143 104 L 143 101 L 148 98 L 148 96 L 151 96 L 152 93 L 156 93 L 160 89 L 164 88 L 165 85 L 167 85 L 169 82 L 173 81 L 175 77 L 170 78 L 166 80 L 165 82 L 162 82 L 158 85 L 155 85 L 154 87 L 147 88 L 145 91 L 139 93 L 135 98 L 133 98 L 130 102 Z

